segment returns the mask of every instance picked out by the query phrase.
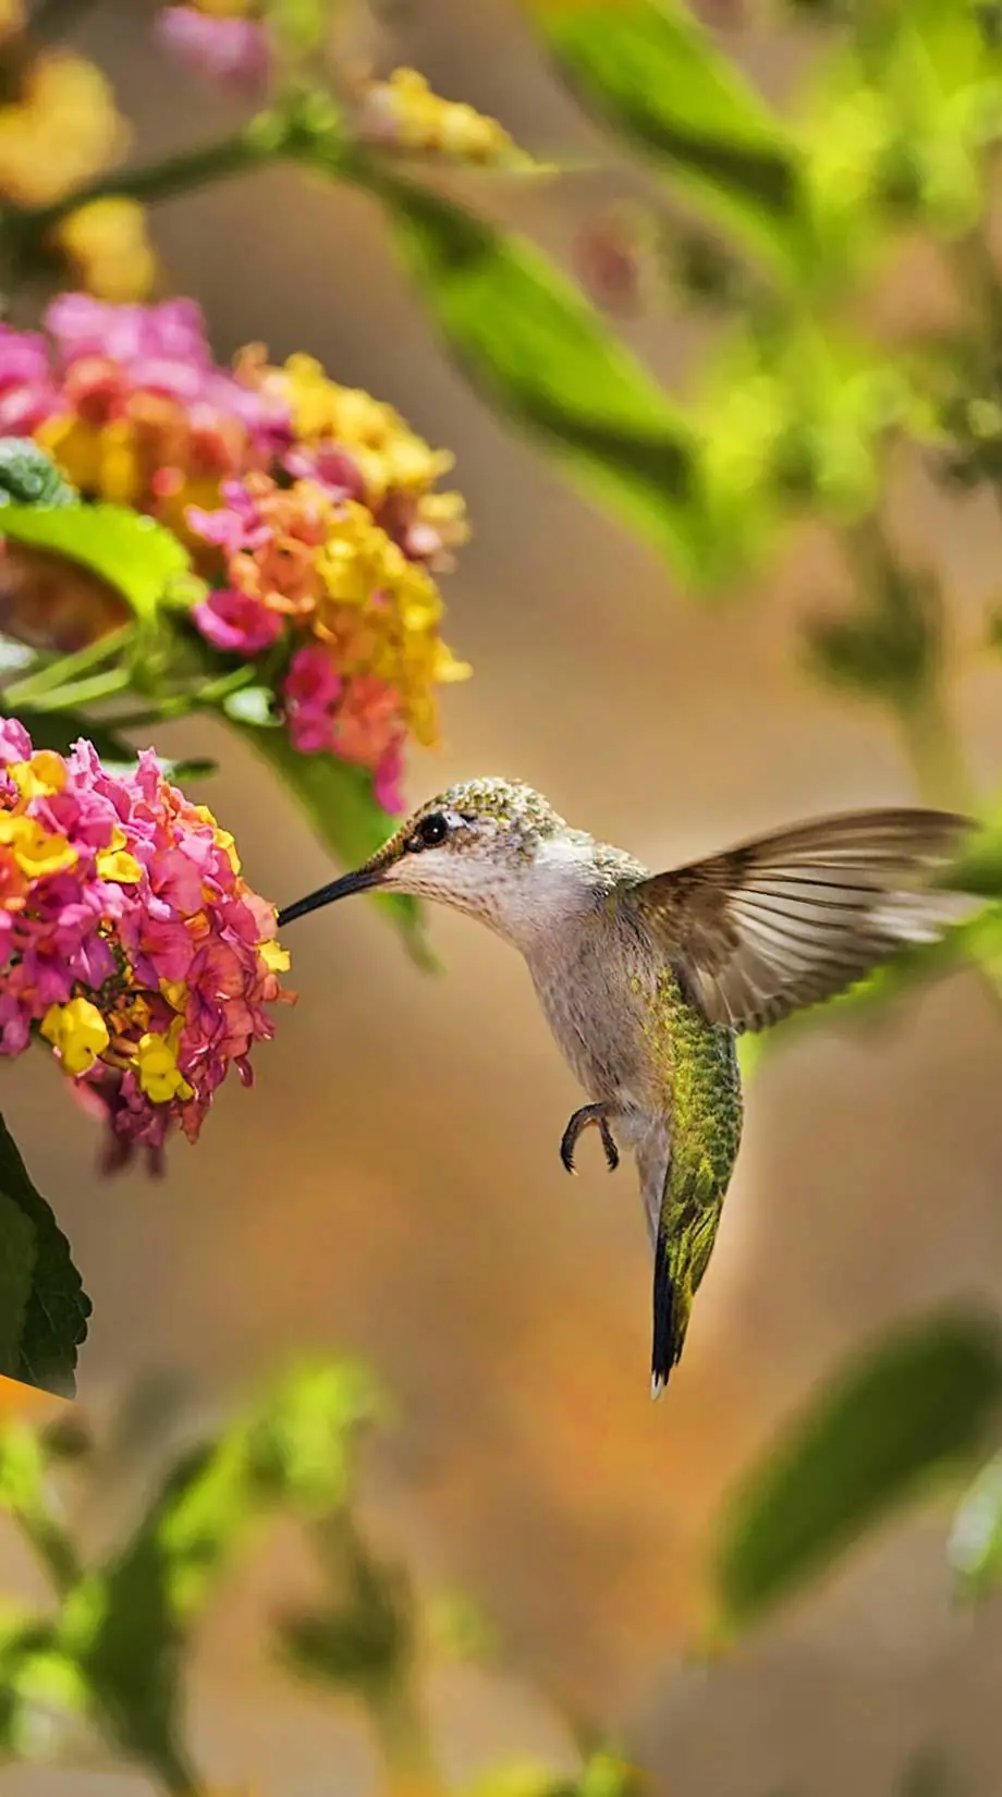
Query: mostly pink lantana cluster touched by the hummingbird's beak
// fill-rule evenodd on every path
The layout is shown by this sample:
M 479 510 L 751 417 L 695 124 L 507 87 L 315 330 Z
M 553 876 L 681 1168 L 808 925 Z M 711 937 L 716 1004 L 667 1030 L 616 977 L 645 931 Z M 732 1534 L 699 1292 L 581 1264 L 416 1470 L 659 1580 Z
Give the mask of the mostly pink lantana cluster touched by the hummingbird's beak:
M 196 1141 L 212 1094 L 273 1035 L 291 994 L 275 911 L 241 877 L 233 839 L 140 757 L 102 769 L 0 722 L 0 1053 L 52 1046 L 106 1121 L 108 1170 L 144 1148 L 160 1168 Z

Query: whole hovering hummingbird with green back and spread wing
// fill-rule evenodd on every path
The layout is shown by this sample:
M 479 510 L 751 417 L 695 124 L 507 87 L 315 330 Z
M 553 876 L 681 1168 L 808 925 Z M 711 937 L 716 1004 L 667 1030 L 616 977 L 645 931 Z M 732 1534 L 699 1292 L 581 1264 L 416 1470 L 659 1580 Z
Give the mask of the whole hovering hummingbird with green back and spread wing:
M 973 821 L 862 810 L 652 873 L 571 828 L 519 780 L 429 800 L 361 868 L 278 913 L 384 888 L 479 918 L 517 949 L 609 1170 L 632 1152 L 654 1258 L 652 1396 L 679 1362 L 742 1139 L 736 1042 L 936 942 L 971 907 L 950 888 Z

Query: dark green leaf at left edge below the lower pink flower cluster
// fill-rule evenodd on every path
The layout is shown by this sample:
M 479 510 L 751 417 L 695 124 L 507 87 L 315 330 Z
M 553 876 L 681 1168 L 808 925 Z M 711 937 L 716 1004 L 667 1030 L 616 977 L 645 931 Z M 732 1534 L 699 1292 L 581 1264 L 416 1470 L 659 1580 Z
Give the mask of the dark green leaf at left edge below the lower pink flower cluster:
M 70 1244 L 0 1118 L 0 1373 L 72 1398 L 90 1308 Z

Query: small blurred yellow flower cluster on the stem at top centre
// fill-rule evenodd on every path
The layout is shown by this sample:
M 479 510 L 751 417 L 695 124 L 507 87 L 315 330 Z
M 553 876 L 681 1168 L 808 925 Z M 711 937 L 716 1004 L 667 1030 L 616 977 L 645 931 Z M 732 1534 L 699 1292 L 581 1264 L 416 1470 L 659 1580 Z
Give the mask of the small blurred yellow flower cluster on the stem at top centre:
M 461 101 L 440 99 L 417 68 L 395 68 L 388 81 L 368 83 L 356 129 L 365 142 L 404 155 L 494 165 L 530 164 L 496 119 Z

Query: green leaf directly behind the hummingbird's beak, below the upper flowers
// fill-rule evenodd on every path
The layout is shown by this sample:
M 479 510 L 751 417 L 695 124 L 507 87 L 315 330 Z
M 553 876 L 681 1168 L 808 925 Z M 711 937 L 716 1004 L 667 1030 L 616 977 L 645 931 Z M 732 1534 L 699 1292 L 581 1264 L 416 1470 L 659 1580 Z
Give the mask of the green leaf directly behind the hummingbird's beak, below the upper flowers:
M 343 866 L 356 868 L 368 861 L 391 834 L 393 819 L 375 803 L 372 776 L 363 767 L 350 767 L 332 755 L 300 755 L 284 730 L 259 730 L 233 719 L 230 726 L 286 782 L 320 841 Z M 436 963 L 426 943 L 417 900 L 406 893 L 377 893 L 372 902 L 397 924 L 415 961 L 433 970 Z

